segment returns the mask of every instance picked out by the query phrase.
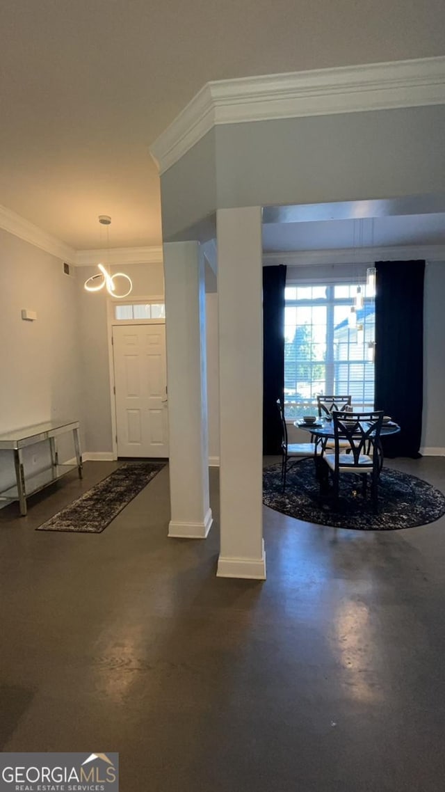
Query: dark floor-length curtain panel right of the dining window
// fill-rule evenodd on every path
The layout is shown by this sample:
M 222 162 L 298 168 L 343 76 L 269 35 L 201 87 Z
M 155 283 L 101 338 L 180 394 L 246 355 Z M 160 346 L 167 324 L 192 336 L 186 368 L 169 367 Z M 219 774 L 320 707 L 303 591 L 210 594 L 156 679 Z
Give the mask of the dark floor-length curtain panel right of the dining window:
M 378 261 L 375 409 L 400 424 L 382 439 L 388 457 L 420 456 L 424 391 L 424 261 Z

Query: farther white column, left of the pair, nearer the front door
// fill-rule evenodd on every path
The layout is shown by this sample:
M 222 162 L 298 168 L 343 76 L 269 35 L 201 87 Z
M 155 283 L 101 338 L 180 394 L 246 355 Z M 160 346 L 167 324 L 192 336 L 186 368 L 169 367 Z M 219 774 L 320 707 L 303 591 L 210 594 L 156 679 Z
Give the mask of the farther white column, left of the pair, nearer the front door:
M 169 397 L 169 536 L 205 539 L 208 490 L 204 262 L 198 242 L 164 245 Z

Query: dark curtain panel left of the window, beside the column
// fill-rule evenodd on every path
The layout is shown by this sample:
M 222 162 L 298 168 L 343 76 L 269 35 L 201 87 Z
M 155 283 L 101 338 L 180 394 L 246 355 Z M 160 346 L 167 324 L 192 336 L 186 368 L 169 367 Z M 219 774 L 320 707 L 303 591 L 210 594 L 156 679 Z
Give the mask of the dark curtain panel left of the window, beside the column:
M 263 453 L 280 454 L 276 407 L 284 390 L 284 289 L 286 267 L 263 267 Z

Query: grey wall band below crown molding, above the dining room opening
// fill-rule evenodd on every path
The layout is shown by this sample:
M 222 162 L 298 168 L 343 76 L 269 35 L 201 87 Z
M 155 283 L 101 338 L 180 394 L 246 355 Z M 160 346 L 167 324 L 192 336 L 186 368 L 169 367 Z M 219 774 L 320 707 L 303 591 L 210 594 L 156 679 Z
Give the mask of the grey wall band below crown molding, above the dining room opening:
M 442 193 L 444 125 L 445 105 L 221 124 L 217 206 Z

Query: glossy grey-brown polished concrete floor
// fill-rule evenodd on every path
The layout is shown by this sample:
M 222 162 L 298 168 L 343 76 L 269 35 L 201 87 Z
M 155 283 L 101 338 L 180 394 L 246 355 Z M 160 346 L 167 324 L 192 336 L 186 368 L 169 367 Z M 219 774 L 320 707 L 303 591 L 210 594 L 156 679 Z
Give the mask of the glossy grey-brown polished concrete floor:
M 445 458 L 392 464 L 445 491 Z M 100 535 L 34 531 L 114 467 L 0 511 L 0 750 L 118 751 L 122 792 L 443 792 L 445 518 L 264 508 L 268 580 L 219 580 L 165 467 Z

